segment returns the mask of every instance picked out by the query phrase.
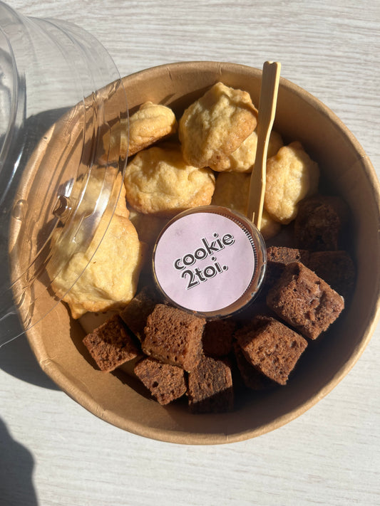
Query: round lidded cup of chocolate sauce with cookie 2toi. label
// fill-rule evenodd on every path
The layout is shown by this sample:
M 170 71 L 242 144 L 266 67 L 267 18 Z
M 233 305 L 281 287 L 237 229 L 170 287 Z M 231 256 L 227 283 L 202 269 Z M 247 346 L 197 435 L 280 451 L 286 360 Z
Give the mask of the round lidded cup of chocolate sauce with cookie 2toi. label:
M 170 304 L 207 319 L 255 299 L 267 264 L 265 241 L 240 213 L 201 206 L 173 218 L 155 243 L 153 276 Z

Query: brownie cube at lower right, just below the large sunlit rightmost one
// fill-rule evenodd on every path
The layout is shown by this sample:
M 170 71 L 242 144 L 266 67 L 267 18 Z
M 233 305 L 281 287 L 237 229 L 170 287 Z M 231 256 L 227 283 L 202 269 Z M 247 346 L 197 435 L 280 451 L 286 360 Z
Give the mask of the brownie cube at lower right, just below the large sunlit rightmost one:
M 257 316 L 235 334 L 247 362 L 280 385 L 307 347 L 307 340 L 272 317 Z

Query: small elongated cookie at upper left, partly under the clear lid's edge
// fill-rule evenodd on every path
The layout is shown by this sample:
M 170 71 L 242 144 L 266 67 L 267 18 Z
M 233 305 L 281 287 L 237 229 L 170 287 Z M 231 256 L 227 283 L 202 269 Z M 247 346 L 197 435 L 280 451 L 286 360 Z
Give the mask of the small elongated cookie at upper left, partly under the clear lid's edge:
M 177 120 L 170 107 L 145 102 L 129 118 L 129 147 L 128 120 L 123 119 L 103 136 L 104 154 L 101 161 L 107 161 L 107 154 L 108 161 L 118 160 L 119 155 L 125 158 L 127 152 L 128 156 L 132 156 L 176 131 Z

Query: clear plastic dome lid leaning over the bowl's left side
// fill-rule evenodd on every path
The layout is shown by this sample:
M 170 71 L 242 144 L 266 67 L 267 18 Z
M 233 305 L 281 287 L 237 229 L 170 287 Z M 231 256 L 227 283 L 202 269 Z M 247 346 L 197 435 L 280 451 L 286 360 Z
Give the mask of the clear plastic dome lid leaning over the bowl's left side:
M 72 255 L 91 260 L 123 184 L 125 143 L 125 90 L 101 43 L 0 2 L 0 346 L 63 297 L 51 285 Z

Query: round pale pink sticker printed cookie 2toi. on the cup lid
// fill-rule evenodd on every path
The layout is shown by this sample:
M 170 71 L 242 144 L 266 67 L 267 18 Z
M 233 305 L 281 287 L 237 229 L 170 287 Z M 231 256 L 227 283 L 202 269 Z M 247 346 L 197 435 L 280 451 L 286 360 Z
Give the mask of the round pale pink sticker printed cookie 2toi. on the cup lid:
M 178 305 L 222 310 L 249 287 L 255 271 L 250 234 L 226 216 L 188 214 L 172 223 L 155 250 L 155 275 Z

